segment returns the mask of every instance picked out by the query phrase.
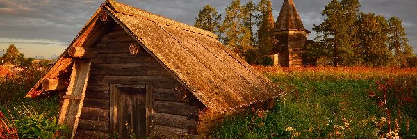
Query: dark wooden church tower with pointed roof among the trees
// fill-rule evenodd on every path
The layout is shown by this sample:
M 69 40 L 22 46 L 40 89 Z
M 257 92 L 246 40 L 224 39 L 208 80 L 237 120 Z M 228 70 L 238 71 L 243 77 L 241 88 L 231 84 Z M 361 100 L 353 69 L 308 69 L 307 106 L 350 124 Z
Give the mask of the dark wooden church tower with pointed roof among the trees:
M 311 32 L 304 29 L 293 0 L 284 0 L 274 30 L 279 41 L 274 48 L 274 65 L 302 67 L 303 50 Z

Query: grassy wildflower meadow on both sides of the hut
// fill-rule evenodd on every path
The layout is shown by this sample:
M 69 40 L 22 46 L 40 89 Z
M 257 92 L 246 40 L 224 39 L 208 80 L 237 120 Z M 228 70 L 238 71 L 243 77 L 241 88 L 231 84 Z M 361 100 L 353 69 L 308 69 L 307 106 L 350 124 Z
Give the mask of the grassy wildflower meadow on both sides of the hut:
M 284 97 L 225 120 L 212 138 L 417 138 L 416 68 L 254 67 Z M 0 137 L 56 138 L 65 129 L 56 124 L 57 97 L 24 99 L 44 72 L 0 77 Z

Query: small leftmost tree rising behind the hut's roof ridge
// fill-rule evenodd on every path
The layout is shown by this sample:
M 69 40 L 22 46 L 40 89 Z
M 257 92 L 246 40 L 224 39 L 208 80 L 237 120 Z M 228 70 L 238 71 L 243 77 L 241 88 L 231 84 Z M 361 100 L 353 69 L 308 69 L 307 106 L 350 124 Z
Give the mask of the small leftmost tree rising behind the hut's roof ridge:
M 218 14 L 214 7 L 207 4 L 202 10 L 199 10 L 198 16 L 195 17 L 194 26 L 206 31 L 218 33 L 221 18 L 222 15 Z

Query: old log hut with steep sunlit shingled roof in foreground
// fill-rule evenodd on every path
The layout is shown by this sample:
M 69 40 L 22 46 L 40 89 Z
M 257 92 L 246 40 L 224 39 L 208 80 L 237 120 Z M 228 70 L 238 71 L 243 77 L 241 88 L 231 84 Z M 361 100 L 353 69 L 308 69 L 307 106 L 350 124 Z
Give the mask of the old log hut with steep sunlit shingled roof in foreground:
M 280 91 L 213 33 L 106 1 L 26 97 L 54 92 L 72 137 L 127 137 L 127 123 L 139 137 L 204 138 Z

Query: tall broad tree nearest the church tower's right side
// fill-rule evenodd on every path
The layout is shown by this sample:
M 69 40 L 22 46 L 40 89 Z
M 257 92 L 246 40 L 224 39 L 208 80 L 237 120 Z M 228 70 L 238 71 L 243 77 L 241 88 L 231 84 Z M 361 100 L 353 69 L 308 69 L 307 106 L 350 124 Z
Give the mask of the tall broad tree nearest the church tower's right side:
M 325 21 L 313 28 L 318 33 L 314 54 L 332 58 L 334 66 L 358 65 L 363 61 L 356 37 L 359 7 L 358 0 L 332 0 L 325 6 Z

